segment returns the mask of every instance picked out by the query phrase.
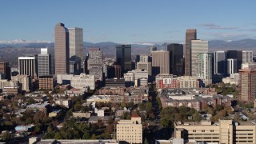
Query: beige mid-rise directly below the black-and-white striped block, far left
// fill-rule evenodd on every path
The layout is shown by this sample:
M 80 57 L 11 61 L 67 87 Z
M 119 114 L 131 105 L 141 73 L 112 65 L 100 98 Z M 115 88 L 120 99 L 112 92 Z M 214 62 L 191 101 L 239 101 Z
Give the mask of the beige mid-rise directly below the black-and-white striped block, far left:
M 16 75 L 11 77 L 13 82 L 18 82 L 22 90 L 29 92 L 32 89 L 32 79 L 28 75 Z

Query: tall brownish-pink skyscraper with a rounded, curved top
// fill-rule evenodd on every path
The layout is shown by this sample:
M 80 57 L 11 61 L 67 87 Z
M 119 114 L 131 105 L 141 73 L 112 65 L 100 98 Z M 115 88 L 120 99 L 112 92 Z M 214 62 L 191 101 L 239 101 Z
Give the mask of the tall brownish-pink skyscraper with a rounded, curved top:
M 63 23 L 55 26 L 55 74 L 70 74 L 69 31 Z

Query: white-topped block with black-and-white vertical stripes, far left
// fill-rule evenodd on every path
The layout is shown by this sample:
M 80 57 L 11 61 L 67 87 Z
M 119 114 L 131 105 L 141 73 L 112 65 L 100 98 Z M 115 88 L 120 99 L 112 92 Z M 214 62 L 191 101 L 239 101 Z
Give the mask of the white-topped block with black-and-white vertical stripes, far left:
M 33 57 L 18 57 L 18 70 L 21 75 L 28 75 L 33 79 L 38 77 L 36 58 Z

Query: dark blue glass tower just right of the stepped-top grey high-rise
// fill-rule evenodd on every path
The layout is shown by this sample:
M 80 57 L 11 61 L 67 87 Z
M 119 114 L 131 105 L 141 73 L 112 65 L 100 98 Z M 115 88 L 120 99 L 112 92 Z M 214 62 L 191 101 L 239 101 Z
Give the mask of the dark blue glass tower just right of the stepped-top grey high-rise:
M 131 70 L 131 45 L 116 46 L 116 64 L 121 66 L 121 74 Z

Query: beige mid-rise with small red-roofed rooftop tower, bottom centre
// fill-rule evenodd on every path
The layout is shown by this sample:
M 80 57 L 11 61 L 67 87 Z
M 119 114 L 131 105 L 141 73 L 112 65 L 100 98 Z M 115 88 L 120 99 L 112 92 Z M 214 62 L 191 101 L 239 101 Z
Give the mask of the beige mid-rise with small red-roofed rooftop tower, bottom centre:
M 131 120 L 118 121 L 117 141 L 142 143 L 142 119 L 138 114 L 133 114 Z

